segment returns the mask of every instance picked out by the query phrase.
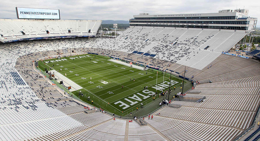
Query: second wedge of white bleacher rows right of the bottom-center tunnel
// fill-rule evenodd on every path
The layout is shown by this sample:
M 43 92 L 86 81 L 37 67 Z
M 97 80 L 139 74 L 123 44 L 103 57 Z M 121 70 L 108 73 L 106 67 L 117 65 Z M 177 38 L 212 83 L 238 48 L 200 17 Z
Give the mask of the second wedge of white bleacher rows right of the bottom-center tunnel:
M 215 110 L 181 106 L 180 108 L 164 108 L 158 111 L 161 116 L 211 125 L 228 126 L 246 129 L 253 120 L 254 112 Z

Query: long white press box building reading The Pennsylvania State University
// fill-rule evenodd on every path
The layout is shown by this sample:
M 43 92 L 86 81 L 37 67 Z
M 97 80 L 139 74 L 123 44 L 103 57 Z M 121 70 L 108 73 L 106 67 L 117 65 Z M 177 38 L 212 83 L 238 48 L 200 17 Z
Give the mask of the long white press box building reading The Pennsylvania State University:
M 251 32 L 257 18 L 248 17 L 248 9 L 220 10 L 218 13 L 160 14 L 141 13 L 129 20 L 130 27 L 175 28 L 224 32 Z

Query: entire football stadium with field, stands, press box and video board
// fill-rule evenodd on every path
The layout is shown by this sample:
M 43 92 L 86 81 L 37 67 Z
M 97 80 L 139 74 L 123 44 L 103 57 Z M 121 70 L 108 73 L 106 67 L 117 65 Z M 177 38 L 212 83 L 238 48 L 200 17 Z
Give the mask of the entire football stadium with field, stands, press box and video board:
M 0 140 L 260 138 L 248 9 L 141 13 L 111 37 L 102 19 L 15 10 L 17 19 L 0 19 Z

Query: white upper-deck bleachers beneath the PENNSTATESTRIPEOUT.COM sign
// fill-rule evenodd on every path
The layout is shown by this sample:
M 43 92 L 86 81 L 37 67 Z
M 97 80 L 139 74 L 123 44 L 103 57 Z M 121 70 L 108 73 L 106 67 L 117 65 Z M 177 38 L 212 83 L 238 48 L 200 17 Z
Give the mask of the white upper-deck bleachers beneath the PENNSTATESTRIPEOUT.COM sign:
M 25 20 L 0 19 L 0 41 L 14 41 L 35 37 L 56 37 L 70 35 L 95 36 L 102 20 Z M 70 29 L 71 33 L 68 33 Z M 88 32 L 90 29 L 90 33 Z M 46 33 L 49 31 L 49 34 Z M 23 35 L 21 33 L 25 33 Z

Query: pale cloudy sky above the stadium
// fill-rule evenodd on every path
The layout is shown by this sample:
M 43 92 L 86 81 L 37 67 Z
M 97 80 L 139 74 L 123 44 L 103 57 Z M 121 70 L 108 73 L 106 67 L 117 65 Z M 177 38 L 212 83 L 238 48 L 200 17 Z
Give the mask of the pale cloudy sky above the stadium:
M 16 19 L 15 7 L 60 9 L 63 20 L 129 20 L 139 13 L 216 13 L 236 8 L 249 9 L 248 16 L 260 18 L 259 0 L 2 0 L 0 18 Z

